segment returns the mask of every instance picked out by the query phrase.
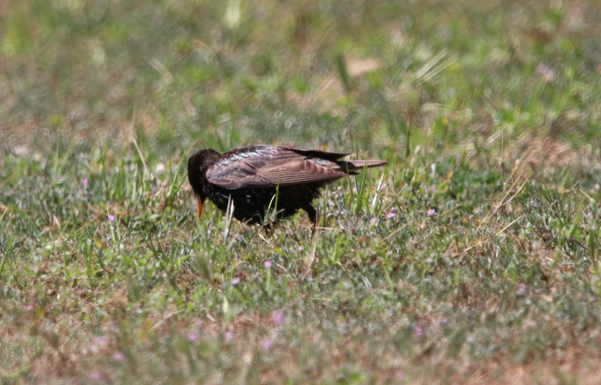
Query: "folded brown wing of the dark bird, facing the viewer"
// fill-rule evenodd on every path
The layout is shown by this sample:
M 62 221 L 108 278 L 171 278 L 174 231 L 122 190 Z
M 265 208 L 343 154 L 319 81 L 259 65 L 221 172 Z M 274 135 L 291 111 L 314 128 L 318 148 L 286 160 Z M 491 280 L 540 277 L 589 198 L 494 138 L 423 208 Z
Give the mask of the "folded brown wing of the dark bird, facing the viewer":
M 207 179 L 222 188 L 237 189 L 329 181 L 347 174 L 335 161 L 308 158 L 312 155 L 307 153 L 308 150 L 295 150 L 292 147 L 265 146 L 231 155 L 228 153 L 224 160 L 209 168 Z

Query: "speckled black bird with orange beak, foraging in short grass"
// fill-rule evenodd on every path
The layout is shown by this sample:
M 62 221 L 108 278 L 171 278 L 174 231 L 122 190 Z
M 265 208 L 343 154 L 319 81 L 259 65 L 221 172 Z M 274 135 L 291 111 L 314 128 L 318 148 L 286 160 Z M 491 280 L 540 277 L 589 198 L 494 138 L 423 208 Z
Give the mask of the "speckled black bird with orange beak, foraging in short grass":
M 386 161 L 341 161 L 349 154 L 297 149 L 296 147 L 251 146 L 221 154 L 201 150 L 188 161 L 188 180 L 198 201 L 198 217 L 209 198 L 221 211 L 233 203 L 233 217 L 247 223 L 263 223 L 270 207 L 284 218 L 303 209 L 313 226 L 317 212 L 311 205 L 319 189 L 364 167 Z M 276 193 L 278 194 L 275 199 Z

